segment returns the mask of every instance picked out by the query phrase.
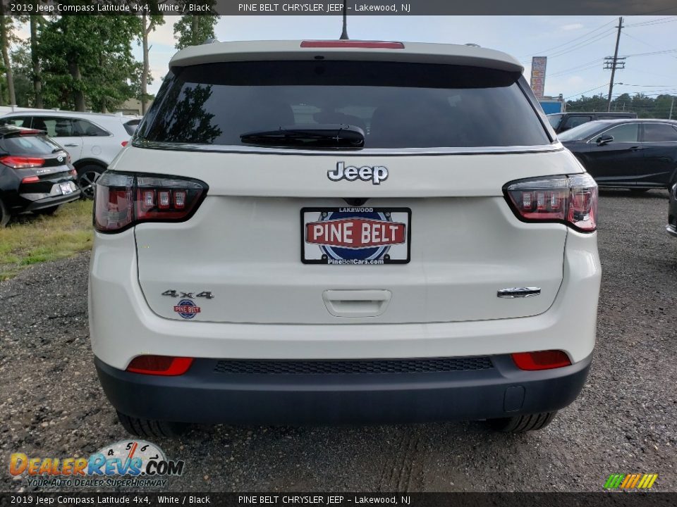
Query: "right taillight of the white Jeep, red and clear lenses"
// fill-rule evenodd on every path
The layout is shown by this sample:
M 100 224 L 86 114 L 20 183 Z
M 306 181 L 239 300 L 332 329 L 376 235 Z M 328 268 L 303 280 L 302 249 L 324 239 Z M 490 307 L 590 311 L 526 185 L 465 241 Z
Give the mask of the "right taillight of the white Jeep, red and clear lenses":
M 517 180 L 503 190 L 524 222 L 559 222 L 581 232 L 597 229 L 597 183 L 587 173 Z

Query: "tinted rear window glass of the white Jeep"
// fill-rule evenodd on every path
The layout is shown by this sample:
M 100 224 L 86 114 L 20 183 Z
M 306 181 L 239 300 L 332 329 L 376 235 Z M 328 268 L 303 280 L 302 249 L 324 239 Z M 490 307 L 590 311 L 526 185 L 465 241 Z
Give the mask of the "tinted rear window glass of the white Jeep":
M 519 73 L 459 65 L 193 65 L 169 73 L 138 135 L 154 142 L 243 145 L 246 132 L 343 123 L 364 130 L 365 148 L 549 144 L 520 80 Z

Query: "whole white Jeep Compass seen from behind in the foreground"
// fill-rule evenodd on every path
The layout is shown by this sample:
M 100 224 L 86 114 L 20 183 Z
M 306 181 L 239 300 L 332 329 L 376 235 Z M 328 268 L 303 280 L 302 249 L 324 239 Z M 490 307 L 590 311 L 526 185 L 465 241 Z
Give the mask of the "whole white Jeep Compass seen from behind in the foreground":
M 592 361 L 597 185 L 522 71 L 461 45 L 179 51 L 95 197 L 124 427 L 549 423 Z

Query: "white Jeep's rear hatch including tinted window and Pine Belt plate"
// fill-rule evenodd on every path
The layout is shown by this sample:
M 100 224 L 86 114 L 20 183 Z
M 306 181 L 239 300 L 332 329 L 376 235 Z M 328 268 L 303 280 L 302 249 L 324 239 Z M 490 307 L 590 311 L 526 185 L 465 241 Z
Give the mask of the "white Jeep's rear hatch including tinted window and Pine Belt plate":
M 561 284 L 567 229 L 520 222 L 502 191 L 571 172 L 536 111 L 518 70 L 368 60 L 173 68 L 112 167 L 209 187 L 190 220 L 135 227 L 147 303 L 165 318 L 223 323 L 542 313 Z M 240 137 L 309 125 L 358 127 L 364 145 Z M 513 287 L 540 295 L 497 297 Z

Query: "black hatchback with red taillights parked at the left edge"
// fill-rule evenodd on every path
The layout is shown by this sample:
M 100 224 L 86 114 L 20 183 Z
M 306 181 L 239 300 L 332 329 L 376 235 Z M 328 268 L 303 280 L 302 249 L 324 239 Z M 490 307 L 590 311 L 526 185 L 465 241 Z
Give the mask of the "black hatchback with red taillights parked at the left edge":
M 12 215 L 51 214 L 80 189 L 66 151 L 39 130 L 0 127 L 0 227 Z

